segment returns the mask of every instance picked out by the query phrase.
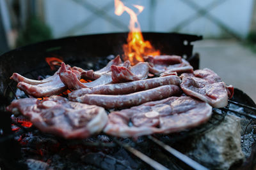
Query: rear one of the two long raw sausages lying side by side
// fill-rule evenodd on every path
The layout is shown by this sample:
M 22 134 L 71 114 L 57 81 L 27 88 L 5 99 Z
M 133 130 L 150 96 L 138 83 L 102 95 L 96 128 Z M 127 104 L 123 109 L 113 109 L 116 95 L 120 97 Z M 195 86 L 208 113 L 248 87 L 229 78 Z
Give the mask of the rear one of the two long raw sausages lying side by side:
M 130 94 L 142 90 L 153 89 L 162 85 L 180 85 L 181 80 L 178 76 L 164 76 L 159 78 L 150 78 L 146 80 L 131 81 L 127 83 L 116 83 L 109 85 L 99 85 L 92 88 L 83 88 L 74 90 L 68 94 L 70 100 L 76 101 L 77 97 L 84 96 L 84 94 Z

